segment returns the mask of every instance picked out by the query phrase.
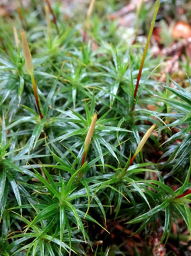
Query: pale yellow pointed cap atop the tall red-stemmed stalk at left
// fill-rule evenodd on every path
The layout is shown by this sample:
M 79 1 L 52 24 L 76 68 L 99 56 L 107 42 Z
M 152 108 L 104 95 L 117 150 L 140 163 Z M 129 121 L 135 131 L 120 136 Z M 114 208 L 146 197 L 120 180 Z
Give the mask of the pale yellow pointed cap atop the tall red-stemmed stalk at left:
M 28 43 L 26 40 L 25 32 L 23 29 L 22 29 L 22 45 L 23 45 L 23 51 L 24 51 L 26 70 L 28 74 L 32 76 L 33 70 L 34 70 L 33 63 L 32 63 L 32 56 L 31 56 L 30 49 L 28 47 Z

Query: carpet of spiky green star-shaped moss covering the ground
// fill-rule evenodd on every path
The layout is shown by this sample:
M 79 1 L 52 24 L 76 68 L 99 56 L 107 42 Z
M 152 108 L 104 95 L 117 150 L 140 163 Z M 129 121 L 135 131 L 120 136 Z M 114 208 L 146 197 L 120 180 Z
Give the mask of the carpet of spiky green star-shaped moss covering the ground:
M 2 5 L 1 16 L 0 255 L 189 255 L 188 55 L 176 83 L 172 74 L 160 79 L 164 57 L 153 56 L 151 46 L 135 100 L 153 4 L 143 3 L 135 42 L 135 19 L 126 28 L 114 18 L 125 1 L 96 1 L 85 41 L 87 3 L 55 1 L 56 24 L 48 27 L 46 1 L 22 2 Z M 175 19 L 183 4 L 161 3 L 155 26 L 160 17 Z M 136 18 L 136 8 L 132 13 Z M 171 39 L 165 28 L 163 42 Z M 25 68 L 22 29 L 43 118 Z

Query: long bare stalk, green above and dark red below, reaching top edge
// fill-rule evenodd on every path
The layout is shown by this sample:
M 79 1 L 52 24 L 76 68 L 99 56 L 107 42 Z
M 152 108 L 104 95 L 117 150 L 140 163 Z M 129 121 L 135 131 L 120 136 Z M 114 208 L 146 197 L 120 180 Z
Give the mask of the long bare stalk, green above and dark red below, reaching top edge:
M 151 41 L 151 35 L 153 34 L 153 28 L 155 26 L 155 20 L 157 18 L 157 12 L 159 10 L 159 6 L 160 6 L 160 3 L 159 3 L 159 0 L 156 1 L 155 3 L 155 11 L 154 11 L 154 15 L 153 15 L 153 20 L 151 22 L 151 28 L 149 30 L 149 35 L 148 35 L 148 38 L 147 38 L 147 43 L 145 45 L 145 50 L 143 52 L 143 57 L 142 57 L 142 60 L 141 60 L 141 66 L 139 68 L 139 74 L 137 76 L 137 84 L 135 86 L 135 92 L 134 92 L 134 102 L 132 103 L 132 109 L 131 111 L 134 110 L 135 108 L 135 100 L 136 100 L 136 97 L 137 97 L 137 90 L 138 90 L 138 87 L 139 87 L 139 82 L 140 82 L 140 79 L 141 79 L 141 74 L 142 74 L 142 70 L 143 70 L 143 65 L 144 65 L 144 62 L 145 62 L 145 57 L 147 55 L 147 51 L 148 51 L 148 48 L 149 48 L 149 43 Z

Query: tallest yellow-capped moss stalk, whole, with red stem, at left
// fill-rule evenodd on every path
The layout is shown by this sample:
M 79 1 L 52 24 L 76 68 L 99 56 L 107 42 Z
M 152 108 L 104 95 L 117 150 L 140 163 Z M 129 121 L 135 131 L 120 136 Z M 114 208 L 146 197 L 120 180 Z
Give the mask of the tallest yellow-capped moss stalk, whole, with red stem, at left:
M 40 99 L 38 98 L 38 91 L 37 91 L 37 86 L 36 86 L 36 81 L 34 79 L 34 66 L 32 63 L 32 56 L 30 53 L 30 49 L 28 47 L 28 42 L 26 40 L 25 32 L 22 30 L 22 45 L 23 45 L 23 51 L 24 51 L 24 58 L 25 58 L 25 66 L 28 74 L 30 74 L 31 80 L 32 80 L 32 86 L 33 86 L 33 91 L 34 91 L 34 97 L 36 100 L 36 106 L 38 108 L 38 113 L 41 119 L 43 119 L 42 112 L 40 110 Z

